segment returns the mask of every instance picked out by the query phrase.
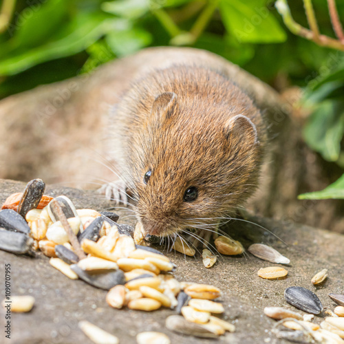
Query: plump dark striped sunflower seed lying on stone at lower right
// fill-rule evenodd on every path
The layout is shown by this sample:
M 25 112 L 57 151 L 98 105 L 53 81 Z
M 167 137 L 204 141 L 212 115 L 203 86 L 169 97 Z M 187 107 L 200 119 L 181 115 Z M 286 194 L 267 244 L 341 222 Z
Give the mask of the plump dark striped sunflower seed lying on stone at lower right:
M 302 287 L 289 287 L 284 291 L 286 301 L 299 310 L 310 314 L 320 314 L 323 312 L 323 305 L 319 297 L 310 290 Z

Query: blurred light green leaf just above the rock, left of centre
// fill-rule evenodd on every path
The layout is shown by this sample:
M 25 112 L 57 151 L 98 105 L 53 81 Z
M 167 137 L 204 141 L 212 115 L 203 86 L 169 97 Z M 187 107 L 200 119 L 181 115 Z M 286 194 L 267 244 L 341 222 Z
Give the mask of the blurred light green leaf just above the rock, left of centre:
M 127 31 L 110 32 L 105 38 L 111 50 L 117 56 L 126 56 L 146 47 L 152 41 L 152 36 L 146 30 L 132 28 Z

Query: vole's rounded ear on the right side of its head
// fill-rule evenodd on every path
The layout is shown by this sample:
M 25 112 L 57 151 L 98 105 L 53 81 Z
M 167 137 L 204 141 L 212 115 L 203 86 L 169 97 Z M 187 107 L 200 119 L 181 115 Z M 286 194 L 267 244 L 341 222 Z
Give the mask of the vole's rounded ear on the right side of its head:
M 224 132 L 228 140 L 246 140 L 251 144 L 259 144 L 257 128 L 250 120 L 244 115 L 233 116 L 228 120 L 224 128 Z

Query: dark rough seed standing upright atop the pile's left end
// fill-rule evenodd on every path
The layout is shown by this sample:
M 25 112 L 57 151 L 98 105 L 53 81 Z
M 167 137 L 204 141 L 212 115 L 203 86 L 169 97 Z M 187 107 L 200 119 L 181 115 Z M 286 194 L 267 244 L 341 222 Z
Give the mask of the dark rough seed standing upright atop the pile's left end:
M 26 184 L 17 212 L 24 217 L 31 209 L 37 208 L 45 191 L 45 182 L 34 179 Z

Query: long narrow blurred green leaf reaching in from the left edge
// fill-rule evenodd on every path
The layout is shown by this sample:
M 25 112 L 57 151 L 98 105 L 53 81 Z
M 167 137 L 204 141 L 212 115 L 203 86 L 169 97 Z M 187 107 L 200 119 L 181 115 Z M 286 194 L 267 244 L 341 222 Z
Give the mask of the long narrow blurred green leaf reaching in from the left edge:
M 103 14 L 80 14 L 70 23 L 72 32 L 61 39 L 0 60 L 0 76 L 18 74 L 39 63 L 81 52 L 104 34 L 116 30 L 117 21 L 118 19 L 108 19 Z

